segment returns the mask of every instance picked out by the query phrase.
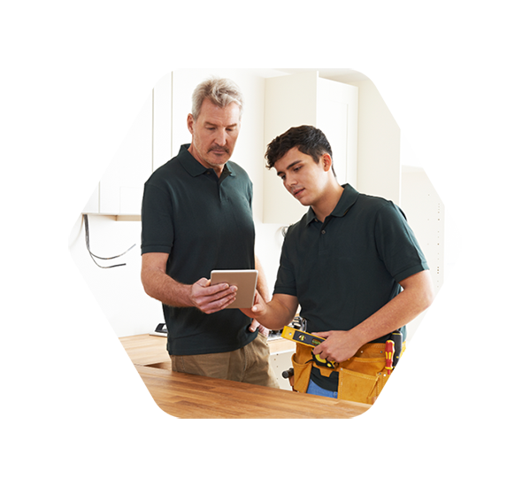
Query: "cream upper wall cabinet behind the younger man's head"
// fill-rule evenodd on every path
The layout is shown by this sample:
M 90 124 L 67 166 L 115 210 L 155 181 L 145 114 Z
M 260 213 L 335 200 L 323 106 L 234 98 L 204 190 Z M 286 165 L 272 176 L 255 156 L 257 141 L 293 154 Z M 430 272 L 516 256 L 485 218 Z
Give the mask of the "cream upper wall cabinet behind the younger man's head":
M 266 146 L 289 128 L 312 125 L 326 134 L 341 184 L 357 184 L 357 87 L 301 73 L 265 81 Z M 265 169 L 264 222 L 290 225 L 308 208 L 283 187 L 274 169 Z

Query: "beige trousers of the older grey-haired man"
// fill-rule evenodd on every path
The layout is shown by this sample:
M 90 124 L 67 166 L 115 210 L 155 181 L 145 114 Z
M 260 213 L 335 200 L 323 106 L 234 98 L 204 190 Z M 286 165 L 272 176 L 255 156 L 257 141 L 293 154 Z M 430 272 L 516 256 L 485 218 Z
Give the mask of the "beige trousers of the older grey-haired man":
M 234 352 L 208 355 L 171 356 L 173 372 L 202 375 L 237 383 L 251 383 L 280 389 L 269 363 L 270 350 L 261 333 L 256 340 Z

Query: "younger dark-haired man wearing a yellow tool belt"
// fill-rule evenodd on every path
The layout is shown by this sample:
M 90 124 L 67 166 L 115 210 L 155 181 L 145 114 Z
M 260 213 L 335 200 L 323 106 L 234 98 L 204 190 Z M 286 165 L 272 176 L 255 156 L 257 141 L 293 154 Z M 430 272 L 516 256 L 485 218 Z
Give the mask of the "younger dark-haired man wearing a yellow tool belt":
M 307 331 L 326 338 L 314 355 L 340 365 L 321 367 L 308 347 L 298 346 L 295 389 L 370 402 L 385 343 L 399 329 L 404 338 L 405 325 L 431 303 L 426 259 L 396 205 L 337 182 L 319 129 L 291 128 L 269 144 L 266 158 L 309 211 L 288 230 L 273 300 L 267 304 L 257 293 L 243 313 L 282 329 L 301 305 Z

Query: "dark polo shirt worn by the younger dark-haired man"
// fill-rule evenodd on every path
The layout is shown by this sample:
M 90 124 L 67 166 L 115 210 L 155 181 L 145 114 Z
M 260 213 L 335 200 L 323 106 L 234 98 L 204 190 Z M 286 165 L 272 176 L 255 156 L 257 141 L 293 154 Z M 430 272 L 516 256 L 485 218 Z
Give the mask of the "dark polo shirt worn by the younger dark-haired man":
M 288 229 L 281 252 L 274 294 L 298 298 L 310 333 L 356 327 L 396 298 L 399 282 L 429 268 L 398 206 L 343 188 L 323 223 L 310 208 Z

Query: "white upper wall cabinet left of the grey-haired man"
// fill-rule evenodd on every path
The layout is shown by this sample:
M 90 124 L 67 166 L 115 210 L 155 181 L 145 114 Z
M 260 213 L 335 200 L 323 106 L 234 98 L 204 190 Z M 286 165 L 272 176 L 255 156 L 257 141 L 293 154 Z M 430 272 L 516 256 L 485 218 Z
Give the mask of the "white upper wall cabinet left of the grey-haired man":
M 82 213 L 142 213 L 144 183 L 171 158 L 171 97 L 168 73 L 151 90 Z

